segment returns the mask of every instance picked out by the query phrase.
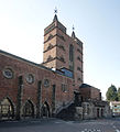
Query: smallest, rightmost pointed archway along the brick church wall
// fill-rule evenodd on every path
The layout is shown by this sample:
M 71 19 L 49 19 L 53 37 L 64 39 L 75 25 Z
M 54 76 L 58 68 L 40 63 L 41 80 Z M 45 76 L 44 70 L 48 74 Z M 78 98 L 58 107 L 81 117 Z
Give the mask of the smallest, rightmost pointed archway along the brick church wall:
M 48 103 L 45 101 L 43 107 L 42 107 L 42 117 L 50 117 L 50 106 Z

